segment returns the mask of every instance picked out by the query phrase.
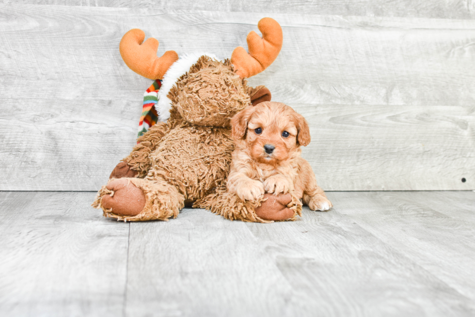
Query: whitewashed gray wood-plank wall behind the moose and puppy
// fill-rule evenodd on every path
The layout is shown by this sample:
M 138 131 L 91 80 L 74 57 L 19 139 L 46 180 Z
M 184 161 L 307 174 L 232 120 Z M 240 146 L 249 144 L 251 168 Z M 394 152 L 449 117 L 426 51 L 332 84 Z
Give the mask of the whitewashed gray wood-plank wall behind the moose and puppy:
M 264 16 L 284 45 L 249 82 L 310 122 L 325 190 L 475 189 L 474 1 L 129 2 L 0 2 L 0 190 L 107 181 L 151 82 L 120 57 L 129 29 L 227 58 Z

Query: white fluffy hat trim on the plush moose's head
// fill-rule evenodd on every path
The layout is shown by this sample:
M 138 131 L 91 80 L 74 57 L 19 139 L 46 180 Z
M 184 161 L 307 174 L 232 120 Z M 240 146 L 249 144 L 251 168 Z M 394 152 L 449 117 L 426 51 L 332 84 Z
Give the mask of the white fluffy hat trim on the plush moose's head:
M 180 56 L 178 61 L 168 68 L 163 76 L 160 90 L 158 91 L 158 103 L 155 105 L 158 113 L 158 121 L 167 121 L 170 118 L 170 109 L 172 109 L 172 101 L 167 97 L 168 92 L 172 89 L 176 81 L 185 73 L 187 73 L 191 66 L 198 62 L 198 59 L 206 55 L 212 59 L 219 59 L 214 54 L 207 53 L 190 53 Z

